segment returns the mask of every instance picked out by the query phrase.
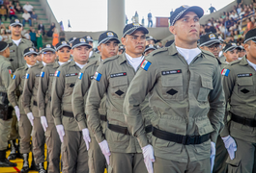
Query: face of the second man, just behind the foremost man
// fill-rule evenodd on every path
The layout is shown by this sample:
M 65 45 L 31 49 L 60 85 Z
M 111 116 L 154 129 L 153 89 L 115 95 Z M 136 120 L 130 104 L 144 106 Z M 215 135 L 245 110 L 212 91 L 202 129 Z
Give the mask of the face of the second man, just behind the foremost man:
M 142 31 L 135 31 L 131 35 L 122 37 L 122 44 L 126 46 L 127 53 L 142 54 L 146 46 L 146 36 Z

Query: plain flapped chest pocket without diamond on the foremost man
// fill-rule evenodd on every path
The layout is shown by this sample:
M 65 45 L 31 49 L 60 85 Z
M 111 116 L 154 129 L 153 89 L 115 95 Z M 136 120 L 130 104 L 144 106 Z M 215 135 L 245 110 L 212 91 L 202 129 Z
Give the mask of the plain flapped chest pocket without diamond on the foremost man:
M 197 100 L 198 102 L 207 102 L 208 95 L 213 89 L 213 79 L 211 77 L 200 76 L 201 77 L 201 87 L 199 88 Z

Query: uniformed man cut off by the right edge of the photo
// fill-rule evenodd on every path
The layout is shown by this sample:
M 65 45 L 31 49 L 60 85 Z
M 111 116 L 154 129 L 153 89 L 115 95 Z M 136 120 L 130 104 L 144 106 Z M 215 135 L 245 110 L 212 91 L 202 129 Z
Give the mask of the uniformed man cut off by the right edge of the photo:
M 226 102 L 230 104 L 231 120 L 224 118 L 220 136 L 229 153 L 228 172 L 250 173 L 255 170 L 256 144 L 256 29 L 244 38 L 246 55 L 222 70 Z

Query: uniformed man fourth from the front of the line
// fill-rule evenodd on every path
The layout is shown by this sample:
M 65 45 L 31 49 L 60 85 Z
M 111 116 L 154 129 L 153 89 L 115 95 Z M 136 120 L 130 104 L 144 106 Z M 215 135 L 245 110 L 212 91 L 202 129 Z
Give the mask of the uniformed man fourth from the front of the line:
M 85 38 L 76 38 L 71 49 L 73 61 L 60 66 L 53 79 L 50 110 L 62 141 L 63 173 L 89 172 L 86 144 L 72 113 L 71 95 L 78 73 L 88 62 L 91 48 Z

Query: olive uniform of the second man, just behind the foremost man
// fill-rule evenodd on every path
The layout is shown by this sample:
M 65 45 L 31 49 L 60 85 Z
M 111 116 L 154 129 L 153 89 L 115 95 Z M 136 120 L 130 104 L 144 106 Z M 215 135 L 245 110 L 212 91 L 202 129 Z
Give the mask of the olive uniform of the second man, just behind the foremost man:
M 123 114 L 125 95 L 128 93 L 128 86 L 135 74 L 136 71 L 128 63 L 126 54 L 108 58 L 100 63 L 95 75 L 96 80 L 93 81 L 88 92 L 87 121 L 99 143 L 104 138 L 107 140 L 111 151 L 108 172 L 147 172 L 139 143 L 134 136 L 130 136 Z M 104 94 L 106 95 L 108 121 L 105 136 L 98 128 L 100 125 L 98 109 Z M 140 109 L 148 111 L 147 103 L 145 101 L 145 107 Z M 147 118 L 147 116 L 144 117 Z M 144 122 L 149 123 L 149 121 Z M 144 127 L 141 128 L 145 130 Z

